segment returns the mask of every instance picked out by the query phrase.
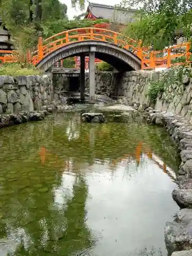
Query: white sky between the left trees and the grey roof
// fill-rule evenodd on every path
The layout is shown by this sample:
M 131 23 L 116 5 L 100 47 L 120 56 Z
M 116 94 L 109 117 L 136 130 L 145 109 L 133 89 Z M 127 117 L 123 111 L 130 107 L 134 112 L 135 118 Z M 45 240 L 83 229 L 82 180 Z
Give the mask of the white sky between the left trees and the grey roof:
M 68 17 L 69 19 L 73 18 L 73 16 L 79 15 L 82 13 L 82 11 L 78 10 L 78 9 L 74 9 L 71 7 L 71 0 L 60 0 L 61 3 L 65 3 L 68 6 Z M 93 3 L 98 3 L 98 4 L 105 4 L 105 5 L 117 5 L 121 2 L 121 0 L 105 0 L 103 2 L 103 0 L 94 0 L 94 1 L 90 1 Z M 88 7 L 88 2 L 86 1 L 86 5 L 85 5 L 85 10 L 84 12 L 87 10 Z

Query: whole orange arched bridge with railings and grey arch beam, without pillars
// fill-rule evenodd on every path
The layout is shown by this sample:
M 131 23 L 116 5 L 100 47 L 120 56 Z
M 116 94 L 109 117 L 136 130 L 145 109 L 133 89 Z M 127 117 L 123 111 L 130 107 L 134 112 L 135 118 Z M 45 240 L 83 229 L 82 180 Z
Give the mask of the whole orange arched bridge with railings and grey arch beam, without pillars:
M 167 48 L 163 51 L 144 49 L 137 42 L 122 34 L 101 28 L 79 28 L 64 31 L 45 40 L 38 39 L 37 49 L 28 51 L 27 61 L 34 66 L 48 70 L 54 63 L 67 57 L 88 55 L 94 48 L 95 57 L 110 63 L 118 70 L 139 70 L 169 68 L 176 58 L 190 60 L 190 43 Z M 17 62 L 16 51 L 0 51 L 0 61 Z

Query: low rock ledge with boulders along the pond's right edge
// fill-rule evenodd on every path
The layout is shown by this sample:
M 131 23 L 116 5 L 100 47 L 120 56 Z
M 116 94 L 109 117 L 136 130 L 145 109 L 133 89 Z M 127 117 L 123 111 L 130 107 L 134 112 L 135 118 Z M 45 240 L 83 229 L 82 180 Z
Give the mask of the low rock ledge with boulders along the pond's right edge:
M 178 188 L 172 193 L 181 210 L 165 226 L 168 255 L 175 251 L 172 256 L 192 256 L 192 125 L 184 117 L 167 111 L 149 111 L 145 118 L 148 123 L 166 127 L 181 157 Z

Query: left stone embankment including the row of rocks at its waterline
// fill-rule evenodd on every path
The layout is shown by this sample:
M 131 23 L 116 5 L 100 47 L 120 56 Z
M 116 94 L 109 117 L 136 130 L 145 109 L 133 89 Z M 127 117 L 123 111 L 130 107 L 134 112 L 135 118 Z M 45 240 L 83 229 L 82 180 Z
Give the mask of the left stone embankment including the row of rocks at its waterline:
M 0 76 L 0 128 L 44 119 L 52 102 L 52 74 Z

